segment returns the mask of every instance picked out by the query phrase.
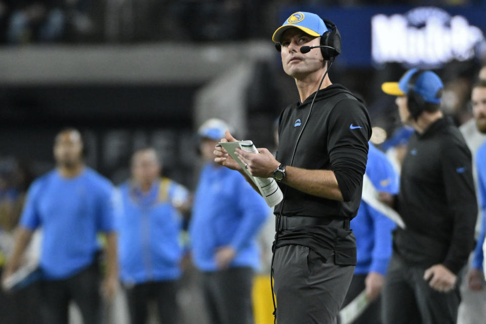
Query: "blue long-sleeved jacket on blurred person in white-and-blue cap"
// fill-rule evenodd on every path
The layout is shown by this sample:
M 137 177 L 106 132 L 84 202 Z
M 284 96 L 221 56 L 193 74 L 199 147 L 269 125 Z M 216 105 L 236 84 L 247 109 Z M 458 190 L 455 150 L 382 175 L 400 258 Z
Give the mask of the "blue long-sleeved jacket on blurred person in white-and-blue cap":
M 259 266 L 256 235 L 269 215 L 265 200 L 239 172 L 208 164 L 194 197 L 189 233 L 194 264 L 215 271 L 219 247 L 231 246 L 236 257 L 230 267 Z

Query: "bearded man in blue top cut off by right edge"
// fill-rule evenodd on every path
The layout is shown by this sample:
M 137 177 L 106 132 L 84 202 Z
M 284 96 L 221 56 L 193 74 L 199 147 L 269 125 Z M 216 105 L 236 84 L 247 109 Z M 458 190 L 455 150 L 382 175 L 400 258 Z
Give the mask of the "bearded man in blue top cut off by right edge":
M 484 69 L 486 71 L 486 69 Z M 479 79 L 473 86 L 471 102 L 476 126 L 479 132 L 486 134 L 486 79 Z M 479 291 L 484 288 L 484 236 L 486 232 L 486 143 L 483 143 L 476 152 L 477 180 L 479 187 L 479 201 L 481 203 L 482 217 L 481 229 L 477 237 L 471 268 L 468 273 L 469 288 Z

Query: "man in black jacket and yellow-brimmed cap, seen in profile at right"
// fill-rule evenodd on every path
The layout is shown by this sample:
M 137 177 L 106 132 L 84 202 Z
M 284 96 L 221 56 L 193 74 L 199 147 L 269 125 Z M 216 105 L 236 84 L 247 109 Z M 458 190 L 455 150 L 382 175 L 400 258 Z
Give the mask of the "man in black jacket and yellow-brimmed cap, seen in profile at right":
M 398 83 L 401 120 L 414 127 L 397 196 L 381 193 L 406 224 L 393 235 L 383 292 L 384 323 L 456 323 L 458 277 L 474 244 L 477 215 L 471 153 L 452 120 L 439 110 L 442 82 L 411 69 Z

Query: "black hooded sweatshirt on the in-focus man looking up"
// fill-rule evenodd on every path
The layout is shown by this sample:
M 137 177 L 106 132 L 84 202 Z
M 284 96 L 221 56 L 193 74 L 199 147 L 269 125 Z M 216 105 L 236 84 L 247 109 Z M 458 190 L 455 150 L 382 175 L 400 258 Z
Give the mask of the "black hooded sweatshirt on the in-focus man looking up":
M 313 196 L 280 183 L 285 198 L 275 207 L 274 214 L 351 220 L 361 201 L 371 137 L 370 117 L 363 102 L 343 86 L 333 84 L 319 90 L 292 162 L 314 94 L 281 112 L 276 159 L 286 166 L 334 171 L 344 201 Z M 334 251 L 336 264 L 356 262 L 355 240 L 349 229 L 314 225 L 284 230 L 277 235 L 277 247 L 304 245 L 324 257 Z

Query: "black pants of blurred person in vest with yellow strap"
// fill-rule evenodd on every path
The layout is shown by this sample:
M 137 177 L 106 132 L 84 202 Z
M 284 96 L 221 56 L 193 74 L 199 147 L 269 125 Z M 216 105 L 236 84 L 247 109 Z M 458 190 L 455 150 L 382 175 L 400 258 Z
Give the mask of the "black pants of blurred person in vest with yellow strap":
M 145 324 L 148 317 L 148 303 L 155 301 L 159 322 L 177 324 L 179 308 L 176 301 L 177 281 L 149 281 L 126 287 L 127 301 L 132 324 Z

